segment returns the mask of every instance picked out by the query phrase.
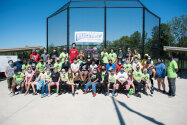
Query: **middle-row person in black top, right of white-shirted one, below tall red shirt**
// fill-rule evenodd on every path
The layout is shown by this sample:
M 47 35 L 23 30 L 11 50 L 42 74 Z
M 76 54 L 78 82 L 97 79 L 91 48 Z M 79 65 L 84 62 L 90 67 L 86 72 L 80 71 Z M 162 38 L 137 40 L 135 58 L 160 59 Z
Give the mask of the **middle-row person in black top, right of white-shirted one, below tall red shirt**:
M 89 64 L 86 62 L 85 58 L 83 58 L 83 61 L 80 65 L 80 72 L 79 72 L 80 79 L 82 82 L 86 82 L 89 68 L 90 68 Z

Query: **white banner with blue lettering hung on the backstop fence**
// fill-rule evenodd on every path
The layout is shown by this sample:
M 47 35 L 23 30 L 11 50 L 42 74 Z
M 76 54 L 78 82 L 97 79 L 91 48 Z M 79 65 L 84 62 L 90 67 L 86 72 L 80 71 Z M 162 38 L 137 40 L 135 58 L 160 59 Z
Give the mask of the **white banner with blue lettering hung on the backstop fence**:
M 75 42 L 103 42 L 103 32 L 94 32 L 94 31 L 75 32 Z

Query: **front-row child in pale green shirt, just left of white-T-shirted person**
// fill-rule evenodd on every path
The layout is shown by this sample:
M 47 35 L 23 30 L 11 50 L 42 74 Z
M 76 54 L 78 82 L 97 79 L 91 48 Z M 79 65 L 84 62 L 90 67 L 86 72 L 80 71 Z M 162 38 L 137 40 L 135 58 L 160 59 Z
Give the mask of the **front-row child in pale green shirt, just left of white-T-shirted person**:
M 107 85 L 107 93 L 106 95 L 109 96 L 109 88 L 110 85 L 113 85 L 113 90 L 112 90 L 112 96 L 115 96 L 115 88 L 116 88 L 116 74 L 115 74 L 115 70 L 111 69 L 109 76 L 108 76 L 108 85 Z

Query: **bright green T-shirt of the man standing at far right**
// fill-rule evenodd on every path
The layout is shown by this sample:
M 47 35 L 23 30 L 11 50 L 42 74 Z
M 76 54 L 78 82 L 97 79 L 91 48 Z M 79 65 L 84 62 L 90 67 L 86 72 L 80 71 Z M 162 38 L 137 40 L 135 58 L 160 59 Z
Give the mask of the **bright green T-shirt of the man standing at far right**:
M 168 63 L 167 66 L 167 76 L 168 78 L 177 78 L 177 73 L 175 69 L 178 69 L 178 65 L 175 60 Z

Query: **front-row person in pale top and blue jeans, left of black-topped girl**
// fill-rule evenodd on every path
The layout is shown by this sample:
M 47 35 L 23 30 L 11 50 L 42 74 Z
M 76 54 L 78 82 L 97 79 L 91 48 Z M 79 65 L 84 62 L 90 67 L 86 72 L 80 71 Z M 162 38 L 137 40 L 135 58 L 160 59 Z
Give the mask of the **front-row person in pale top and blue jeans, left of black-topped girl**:
M 47 67 L 47 70 L 44 73 L 44 82 L 42 84 L 41 98 L 47 96 L 48 85 L 50 84 L 50 79 L 51 79 L 51 68 Z

